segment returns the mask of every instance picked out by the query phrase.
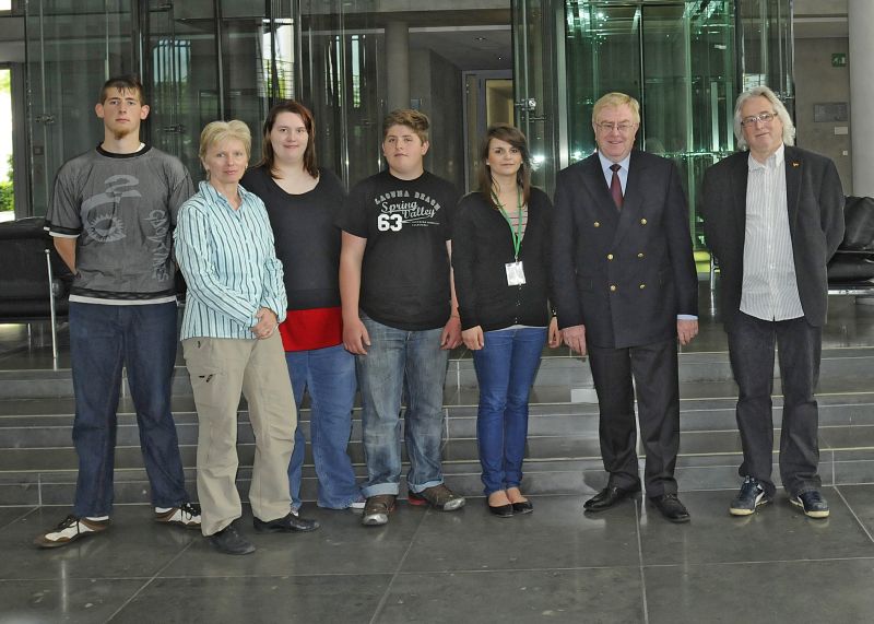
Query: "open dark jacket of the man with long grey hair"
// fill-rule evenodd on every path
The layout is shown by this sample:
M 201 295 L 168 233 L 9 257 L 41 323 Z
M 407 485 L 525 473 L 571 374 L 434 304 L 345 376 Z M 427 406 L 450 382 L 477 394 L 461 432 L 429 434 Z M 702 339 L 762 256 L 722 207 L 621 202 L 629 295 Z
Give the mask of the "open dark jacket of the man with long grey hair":
M 826 266 L 843 240 L 843 190 L 835 163 L 826 156 L 786 145 L 786 197 L 789 234 L 804 318 L 826 321 Z M 746 237 L 748 152 L 720 161 L 705 172 L 701 214 L 707 245 L 719 259 L 720 299 L 725 329 L 741 308 Z

